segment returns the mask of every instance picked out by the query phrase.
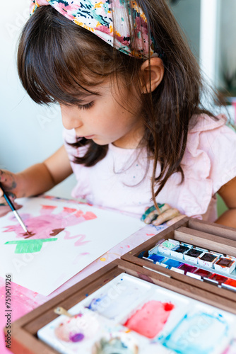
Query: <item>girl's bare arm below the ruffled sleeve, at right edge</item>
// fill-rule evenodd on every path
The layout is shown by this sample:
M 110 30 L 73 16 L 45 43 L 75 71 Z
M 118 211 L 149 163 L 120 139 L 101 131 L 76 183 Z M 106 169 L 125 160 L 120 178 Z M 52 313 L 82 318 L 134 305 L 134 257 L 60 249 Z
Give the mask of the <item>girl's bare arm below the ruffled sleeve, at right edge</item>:
M 236 177 L 223 185 L 218 194 L 223 198 L 225 204 L 229 208 L 217 220 L 217 224 L 236 227 Z

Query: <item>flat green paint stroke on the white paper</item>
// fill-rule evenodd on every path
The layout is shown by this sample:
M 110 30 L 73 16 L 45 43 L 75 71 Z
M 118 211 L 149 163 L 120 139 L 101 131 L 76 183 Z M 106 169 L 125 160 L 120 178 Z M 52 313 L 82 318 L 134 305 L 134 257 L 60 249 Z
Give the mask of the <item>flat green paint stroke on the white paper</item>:
M 16 244 L 15 253 L 33 253 L 41 251 L 42 244 L 49 241 L 57 241 L 57 239 L 7 241 L 5 244 Z

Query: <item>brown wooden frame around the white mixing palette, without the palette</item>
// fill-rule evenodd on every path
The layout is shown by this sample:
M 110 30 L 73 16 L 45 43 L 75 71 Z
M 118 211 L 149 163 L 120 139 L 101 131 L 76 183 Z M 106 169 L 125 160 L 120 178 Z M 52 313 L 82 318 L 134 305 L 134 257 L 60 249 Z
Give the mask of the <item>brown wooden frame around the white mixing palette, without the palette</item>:
M 155 244 L 155 240 L 153 240 L 153 244 Z M 37 338 L 37 331 L 57 317 L 57 314 L 54 314 L 53 310 L 57 306 L 62 306 L 65 309 L 73 307 L 73 305 L 77 304 L 121 273 L 134 275 L 137 278 L 153 282 L 156 285 L 173 290 L 179 294 L 236 314 L 236 302 L 232 301 L 230 298 L 225 297 L 222 301 L 221 296 L 213 292 L 208 292 L 208 289 L 203 290 L 199 287 L 194 287 L 190 282 L 188 284 L 181 280 L 168 278 L 166 275 L 155 273 L 152 270 L 142 268 L 140 265 L 117 259 L 93 273 L 88 278 L 73 285 L 73 287 L 62 292 L 57 297 L 54 297 L 54 299 L 42 304 L 42 306 L 33 310 L 33 312 L 13 322 L 11 351 L 16 354 L 58 353 Z

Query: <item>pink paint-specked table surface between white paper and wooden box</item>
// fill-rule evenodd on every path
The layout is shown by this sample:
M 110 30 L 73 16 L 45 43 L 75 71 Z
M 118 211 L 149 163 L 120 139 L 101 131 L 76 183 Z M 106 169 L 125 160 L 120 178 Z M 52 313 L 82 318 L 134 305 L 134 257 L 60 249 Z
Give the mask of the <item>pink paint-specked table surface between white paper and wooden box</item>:
M 66 200 L 68 202 L 68 200 Z M 71 200 L 71 202 L 75 203 L 75 200 Z M 143 224 L 144 225 L 144 224 Z M 94 273 L 96 270 L 102 268 L 104 265 L 114 261 L 114 259 L 120 258 L 125 253 L 129 252 L 131 249 L 134 249 L 139 244 L 142 244 L 144 241 L 150 239 L 158 232 L 165 229 L 166 226 L 160 225 L 160 227 L 154 227 L 153 225 L 146 225 L 143 229 L 140 229 L 138 232 L 135 232 L 131 236 L 127 237 L 121 243 L 114 246 L 113 249 L 107 251 L 105 254 L 100 256 L 96 261 L 90 263 L 86 268 L 81 270 L 81 272 L 77 273 L 70 280 L 65 282 L 61 287 L 52 292 L 49 296 L 40 295 L 37 292 L 33 292 L 32 290 L 28 290 L 25 287 L 11 283 L 11 322 L 16 321 L 21 316 L 28 314 L 28 312 L 32 311 L 36 307 L 44 304 L 49 301 L 53 297 L 59 295 L 64 290 L 88 277 L 88 275 Z M 13 275 L 14 276 L 14 275 Z M 4 338 L 4 327 L 6 326 L 6 304 L 5 304 L 5 279 L 0 277 L 0 353 L 1 354 L 9 354 L 11 353 L 8 348 L 5 346 L 5 338 Z

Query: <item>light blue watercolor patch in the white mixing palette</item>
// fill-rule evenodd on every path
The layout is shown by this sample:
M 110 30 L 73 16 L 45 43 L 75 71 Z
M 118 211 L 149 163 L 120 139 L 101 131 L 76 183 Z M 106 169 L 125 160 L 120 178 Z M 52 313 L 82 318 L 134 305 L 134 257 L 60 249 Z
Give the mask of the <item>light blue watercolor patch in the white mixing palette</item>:
M 211 354 L 228 337 L 228 331 L 228 323 L 220 314 L 186 314 L 162 344 L 176 353 Z

